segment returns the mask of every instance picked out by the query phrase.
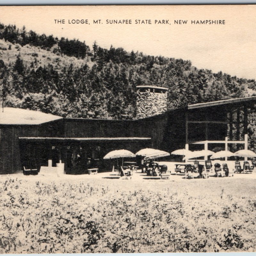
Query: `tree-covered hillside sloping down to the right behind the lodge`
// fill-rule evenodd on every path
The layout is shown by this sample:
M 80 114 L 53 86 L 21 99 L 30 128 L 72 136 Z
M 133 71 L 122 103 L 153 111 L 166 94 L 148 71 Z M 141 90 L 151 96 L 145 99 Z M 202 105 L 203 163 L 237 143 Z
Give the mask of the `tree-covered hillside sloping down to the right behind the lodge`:
M 254 80 L 197 69 L 189 60 L 108 50 L 96 42 L 90 49 L 76 39 L 0 24 L 0 93 L 5 106 L 64 117 L 131 119 L 140 84 L 167 87 L 169 109 L 244 97 L 256 89 Z

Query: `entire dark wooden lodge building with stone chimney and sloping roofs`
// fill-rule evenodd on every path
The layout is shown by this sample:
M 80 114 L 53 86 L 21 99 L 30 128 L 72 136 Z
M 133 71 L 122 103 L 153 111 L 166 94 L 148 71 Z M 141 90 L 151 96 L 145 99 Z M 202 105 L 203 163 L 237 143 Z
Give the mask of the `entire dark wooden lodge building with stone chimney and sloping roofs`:
M 89 167 L 109 171 L 103 156 L 114 149 L 133 153 L 142 148 L 167 152 L 186 148 L 248 147 L 248 108 L 256 97 L 233 98 L 167 110 L 167 88 L 137 86 L 134 120 L 62 118 L 19 108 L 0 112 L 0 174 L 22 172 L 28 162 L 56 166 L 66 173 Z M 205 156 L 206 158 L 207 156 Z M 165 160 L 172 161 L 173 156 Z

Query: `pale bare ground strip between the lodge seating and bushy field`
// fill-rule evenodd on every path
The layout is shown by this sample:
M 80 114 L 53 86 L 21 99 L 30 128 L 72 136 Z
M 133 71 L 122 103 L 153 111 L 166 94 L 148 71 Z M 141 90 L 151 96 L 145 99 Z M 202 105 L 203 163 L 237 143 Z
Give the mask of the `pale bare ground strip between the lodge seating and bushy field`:
M 194 196 L 201 195 L 205 189 L 205 193 L 210 195 L 219 195 L 221 189 L 225 189 L 227 193 L 232 195 L 256 195 L 256 172 L 252 173 L 229 173 L 229 177 L 214 177 L 214 172 L 209 173 L 208 179 L 185 179 L 185 175 L 182 173 L 171 172 L 169 179 L 161 180 L 160 177 L 150 177 L 146 173 L 141 173 L 141 170 L 133 172 L 132 179 L 120 179 L 120 175 L 117 172 L 100 172 L 97 174 L 81 174 L 70 175 L 61 174 L 57 175 L 56 168 L 52 168 L 52 171 L 41 169 L 38 175 L 25 176 L 23 174 L 11 174 L 2 175 L 1 178 L 12 178 L 23 180 L 27 184 L 34 185 L 35 182 L 40 181 L 46 184 L 55 182 L 56 184 L 62 183 L 79 183 L 82 181 L 93 184 L 101 184 L 102 186 L 111 186 L 113 188 L 121 188 L 124 190 L 134 191 L 136 189 L 151 189 L 155 188 L 168 188 L 170 192 L 182 193 L 184 189 Z

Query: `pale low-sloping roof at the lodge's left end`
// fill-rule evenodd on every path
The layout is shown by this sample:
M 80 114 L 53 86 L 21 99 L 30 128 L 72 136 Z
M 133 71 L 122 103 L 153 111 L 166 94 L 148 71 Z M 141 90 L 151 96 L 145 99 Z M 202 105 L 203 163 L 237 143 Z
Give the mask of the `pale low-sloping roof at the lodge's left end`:
M 0 124 L 43 124 L 61 119 L 60 116 L 22 108 L 0 108 Z

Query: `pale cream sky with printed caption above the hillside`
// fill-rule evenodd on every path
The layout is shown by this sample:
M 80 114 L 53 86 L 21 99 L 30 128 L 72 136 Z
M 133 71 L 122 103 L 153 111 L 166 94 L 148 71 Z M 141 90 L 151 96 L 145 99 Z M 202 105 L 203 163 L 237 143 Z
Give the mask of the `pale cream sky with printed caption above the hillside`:
M 107 49 L 112 45 L 128 52 L 181 58 L 197 68 L 255 79 L 255 11 L 256 5 L 0 6 L 0 22 L 18 28 L 24 25 L 39 34 L 76 38 L 91 49 L 96 41 Z M 55 20 L 65 20 L 65 24 L 55 24 Z M 90 24 L 72 24 L 72 20 Z M 93 20 L 101 22 L 93 24 Z M 107 24 L 107 20 L 132 24 Z M 151 20 L 151 24 L 135 24 L 135 20 Z M 225 24 L 194 24 L 197 20 L 225 20 Z

